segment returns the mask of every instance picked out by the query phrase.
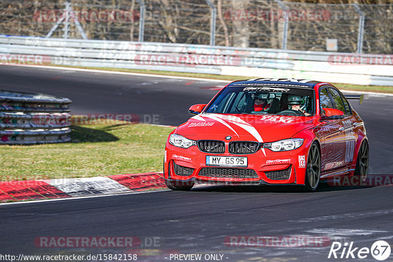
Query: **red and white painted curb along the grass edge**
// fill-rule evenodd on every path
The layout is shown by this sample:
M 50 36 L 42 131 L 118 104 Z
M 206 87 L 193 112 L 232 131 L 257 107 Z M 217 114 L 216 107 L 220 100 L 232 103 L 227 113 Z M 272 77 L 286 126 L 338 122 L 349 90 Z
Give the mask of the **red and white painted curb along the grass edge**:
M 166 189 L 162 173 L 0 182 L 0 202 L 58 199 Z

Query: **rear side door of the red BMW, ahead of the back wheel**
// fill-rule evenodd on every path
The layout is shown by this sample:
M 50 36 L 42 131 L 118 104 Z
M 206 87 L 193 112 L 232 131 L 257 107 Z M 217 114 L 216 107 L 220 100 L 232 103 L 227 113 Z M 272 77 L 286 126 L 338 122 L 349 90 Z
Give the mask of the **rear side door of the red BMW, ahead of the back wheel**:
M 342 152 L 341 166 L 345 167 L 351 164 L 353 160 L 353 154 L 355 151 L 355 142 L 357 140 L 353 123 L 356 121 L 348 101 L 336 90 L 335 88 L 329 88 L 329 92 L 332 96 L 333 105 L 336 109 L 344 112 L 344 117 L 339 121 L 339 147 Z

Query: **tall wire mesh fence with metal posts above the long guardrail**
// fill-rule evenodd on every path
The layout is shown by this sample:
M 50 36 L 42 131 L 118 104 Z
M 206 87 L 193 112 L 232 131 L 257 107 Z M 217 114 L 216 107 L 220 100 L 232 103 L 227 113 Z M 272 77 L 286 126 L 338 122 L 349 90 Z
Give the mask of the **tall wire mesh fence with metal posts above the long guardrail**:
M 393 53 L 393 5 L 280 0 L 3 0 L 0 33 L 389 54 Z

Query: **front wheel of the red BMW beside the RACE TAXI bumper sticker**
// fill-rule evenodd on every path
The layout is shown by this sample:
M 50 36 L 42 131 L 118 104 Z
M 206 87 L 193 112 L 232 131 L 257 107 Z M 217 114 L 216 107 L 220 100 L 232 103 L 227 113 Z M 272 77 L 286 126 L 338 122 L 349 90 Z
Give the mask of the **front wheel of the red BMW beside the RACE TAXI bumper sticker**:
M 312 143 L 307 157 L 304 191 L 313 192 L 318 188 L 321 178 L 321 154 L 317 143 Z

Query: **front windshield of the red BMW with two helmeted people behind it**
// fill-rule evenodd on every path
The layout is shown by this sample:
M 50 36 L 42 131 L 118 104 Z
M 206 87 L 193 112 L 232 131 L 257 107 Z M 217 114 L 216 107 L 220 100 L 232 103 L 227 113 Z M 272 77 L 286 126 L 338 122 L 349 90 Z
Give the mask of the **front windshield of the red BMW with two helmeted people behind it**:
M 314 108 L 313 89 L 228 86 L 205 112 L 312 116 Z

